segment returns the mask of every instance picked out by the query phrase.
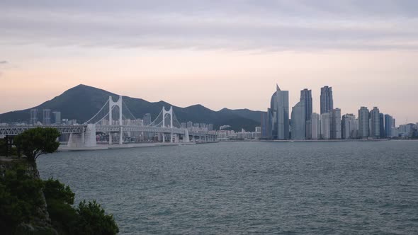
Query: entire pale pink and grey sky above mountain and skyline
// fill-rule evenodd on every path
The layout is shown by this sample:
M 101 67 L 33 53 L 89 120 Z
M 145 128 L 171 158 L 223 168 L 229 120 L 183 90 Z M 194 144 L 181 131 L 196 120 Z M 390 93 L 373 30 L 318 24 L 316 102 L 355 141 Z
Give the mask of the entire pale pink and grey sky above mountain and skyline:
M 334 108 L 418 122 L 418 1 L 0 1 L 0 113 L 85 84 L 266 110 L 332 86 Z

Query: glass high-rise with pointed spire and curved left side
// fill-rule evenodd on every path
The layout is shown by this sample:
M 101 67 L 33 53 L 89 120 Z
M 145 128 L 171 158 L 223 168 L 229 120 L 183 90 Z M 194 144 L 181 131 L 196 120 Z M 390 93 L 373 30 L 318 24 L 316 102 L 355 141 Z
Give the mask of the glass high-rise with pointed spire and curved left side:
M 281 91 L 278 85 L 271 96 L 269 119 L 273 139 L 289 139 L 289 91 Z

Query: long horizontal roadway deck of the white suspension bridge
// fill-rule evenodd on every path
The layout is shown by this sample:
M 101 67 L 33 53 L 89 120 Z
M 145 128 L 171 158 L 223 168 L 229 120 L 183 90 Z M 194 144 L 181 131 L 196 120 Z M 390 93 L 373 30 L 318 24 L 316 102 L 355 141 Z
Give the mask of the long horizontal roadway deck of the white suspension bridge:
M 72 125 L 72 126 L 40 126 L 40 127 L 52 127 L 56 128 L 62 134 L 78 134 L 86 132 L 87 125 Z M 21 134 L 25 130 L 35 128 L 35 127 L 0 127 L 0 139 L 6 136 L 14 136 Z M 156 132 L 156 133 L 173 133 L 173 134 L 186 134 L 186 130 L 179 128 L 169 128 L 169 127 L 147 127 L 147 126 L 135 126 L 135 125 L 96 125 L 96 132 L 120 132 L 120 129 L 124 132 Z M 196 137 L 205 137 L 208 132 L 205 131 L 189 131 L 189 136 Z

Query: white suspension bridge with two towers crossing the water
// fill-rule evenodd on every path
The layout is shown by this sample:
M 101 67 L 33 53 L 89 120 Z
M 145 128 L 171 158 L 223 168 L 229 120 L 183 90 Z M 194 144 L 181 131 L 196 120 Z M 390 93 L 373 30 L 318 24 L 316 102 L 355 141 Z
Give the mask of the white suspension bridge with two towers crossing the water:
M 135 133 L 148 133 L 157 137 L 159 142 L 189 143 L 189 142 L 215 142 L 217 137 L 208 130 L 189 130 L 182 128 L 171 106 L 169 110 L 162 107 L 159 115 L 151 123 L 143 124 L 142 120 L 132 115 L 128 105 L 123 102 L 122 96 L 108 101 L 98 110 L 96 115 L 82 125 L 60 126 L 43 125 L 41 127 L 56 128 L 62 134 L 69 134 L 67 147 L 96 147 L 98 134 L 107 137 L 108 144 L 123 144 Z M 0 138 L 13 137 L 34 127 L 0 127 Z

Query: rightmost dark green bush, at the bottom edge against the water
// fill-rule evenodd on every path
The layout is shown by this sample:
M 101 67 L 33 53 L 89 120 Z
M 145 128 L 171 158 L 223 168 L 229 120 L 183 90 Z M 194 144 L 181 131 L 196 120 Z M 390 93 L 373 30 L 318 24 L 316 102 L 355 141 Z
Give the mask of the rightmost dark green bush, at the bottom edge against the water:
M 119 232 L 118 225 L 115 223 L 112 214 L 105 214 L 96 201 L 82 201 L 77 207 L 77 228 L 74 234 L 88 235 L 101 234 L 113 235 Z

